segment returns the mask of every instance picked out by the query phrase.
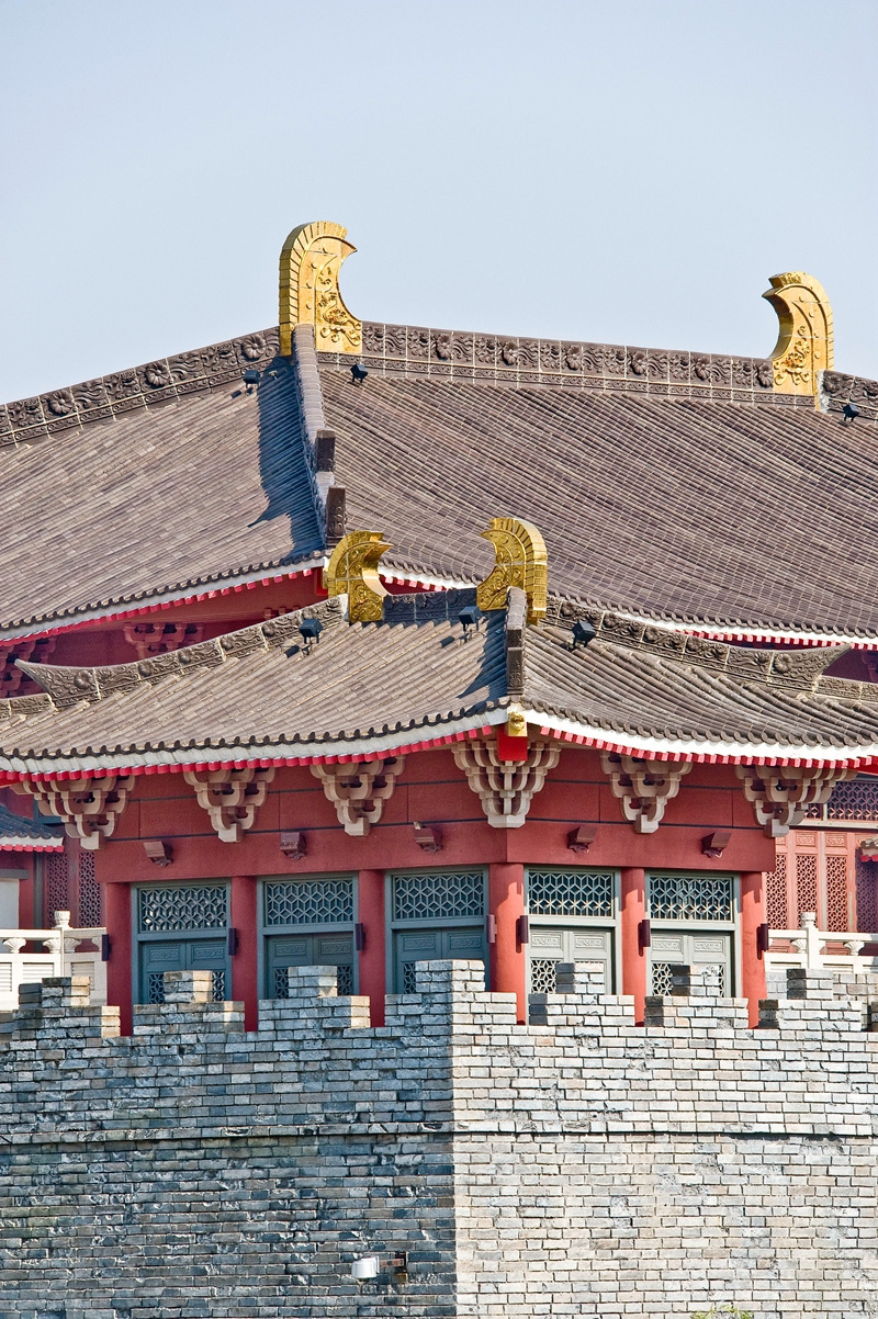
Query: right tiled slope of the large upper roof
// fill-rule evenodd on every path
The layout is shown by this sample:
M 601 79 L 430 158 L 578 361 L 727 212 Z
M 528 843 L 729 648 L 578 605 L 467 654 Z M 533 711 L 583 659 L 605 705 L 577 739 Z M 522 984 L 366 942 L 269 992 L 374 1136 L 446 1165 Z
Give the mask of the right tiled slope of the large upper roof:
M 813 406 L 322 369 L 348 525 L 382 568 L 479 580 L 492 516 L 552 590 L 705 627 L 878 636 L 878 427 Z

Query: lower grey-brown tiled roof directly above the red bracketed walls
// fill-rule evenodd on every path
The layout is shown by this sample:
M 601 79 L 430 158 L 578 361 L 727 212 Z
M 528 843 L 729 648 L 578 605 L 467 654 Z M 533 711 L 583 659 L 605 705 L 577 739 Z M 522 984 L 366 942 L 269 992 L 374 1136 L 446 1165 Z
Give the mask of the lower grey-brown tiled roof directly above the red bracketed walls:
M 464 636 L 472 591 L 395 596 L 382 624 L 344 620 L 336 598 L 153 660 L 100 669 L 22 663 L 46 695 L 0 703 L 0 770 L 78 773 L 145 765 L 364 757 L 451 741 L 502 723 L 510 699 L 533 724 L 591 745 L 676 758 L 878 757 L 869 683 L 824 678 L 838 650 L 754 650 L 631 627 L 551 598 L 525 629 L 525 681 L 506 681 L 506 612 Z M 303 616 L 323 623 L 303 641 Z M 514 642 L 515 645 L 518 642 Z

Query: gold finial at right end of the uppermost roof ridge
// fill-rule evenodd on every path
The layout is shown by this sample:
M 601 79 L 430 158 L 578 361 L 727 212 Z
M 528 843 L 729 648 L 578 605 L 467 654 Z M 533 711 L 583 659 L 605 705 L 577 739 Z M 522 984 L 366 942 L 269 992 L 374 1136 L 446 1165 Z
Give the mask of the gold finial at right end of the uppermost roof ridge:
M 813 394 L 820 372 L 832 371 L 832 307 L 817 280 L 803 270 L 773 274 L 762 294 L 778 313 L 780 332 L 771 353 L 774 388 L 779 394 Z

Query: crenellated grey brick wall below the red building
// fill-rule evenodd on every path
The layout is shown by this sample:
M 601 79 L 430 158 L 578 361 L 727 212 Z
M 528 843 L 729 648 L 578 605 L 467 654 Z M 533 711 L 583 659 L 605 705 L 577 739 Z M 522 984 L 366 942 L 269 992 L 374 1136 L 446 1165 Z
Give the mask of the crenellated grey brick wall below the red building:
M 428 963 L 370 1029 L 299 968 L 244 1033 L 177 972 L 131 1038 L 80 983 L 29 987 L 0 1026 L 0 1319 L 878 1314 L 870 979 L 791 972 L 750 1030 L 707 973 L 646 1028 L 559 975 L 518 1026 L 481 966 Z

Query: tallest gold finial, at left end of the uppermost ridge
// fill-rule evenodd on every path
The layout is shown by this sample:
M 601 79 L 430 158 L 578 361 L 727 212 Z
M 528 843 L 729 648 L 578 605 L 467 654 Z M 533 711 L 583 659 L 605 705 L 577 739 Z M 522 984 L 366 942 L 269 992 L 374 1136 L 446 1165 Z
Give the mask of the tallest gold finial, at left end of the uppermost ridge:
M 363 324 L 339 291 L 341 262 L 356 252 L 347 230 L 330 220 L 299 224 L 281 249 L 281 352 L 293 351 L 293 327 L 314 326 L 318 352 L 360 352 Z

